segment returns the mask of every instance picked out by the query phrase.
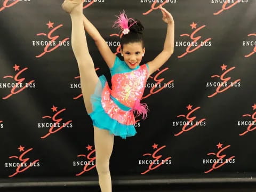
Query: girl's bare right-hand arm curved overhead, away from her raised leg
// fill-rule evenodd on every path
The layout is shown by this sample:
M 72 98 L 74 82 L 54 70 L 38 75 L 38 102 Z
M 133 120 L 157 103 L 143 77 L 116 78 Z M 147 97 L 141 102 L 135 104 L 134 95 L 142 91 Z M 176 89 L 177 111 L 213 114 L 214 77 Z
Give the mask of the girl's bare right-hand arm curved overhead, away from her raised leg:
M 149 75 L 160 68 L 171 57 L 174 50 L 174 20 L 171 13 L 169 13 L 166 9 L 164 9 L 162 6 L 160 9 L 163 13 L 163 21 L 167 23 L 167 33 L 163 51 L 159 53 L 154 60 L 148 62 Z

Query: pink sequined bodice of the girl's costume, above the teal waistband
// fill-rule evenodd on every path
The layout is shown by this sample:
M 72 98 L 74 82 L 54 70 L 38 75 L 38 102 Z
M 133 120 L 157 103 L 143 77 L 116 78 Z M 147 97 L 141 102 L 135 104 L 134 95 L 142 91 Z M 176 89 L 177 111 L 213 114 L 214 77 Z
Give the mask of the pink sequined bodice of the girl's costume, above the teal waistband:
M 134 107 L 136 100 L 141 99 L 148 78 L 146 65 L 131 72 L 113 75 L 110 94 L 127 107 Z

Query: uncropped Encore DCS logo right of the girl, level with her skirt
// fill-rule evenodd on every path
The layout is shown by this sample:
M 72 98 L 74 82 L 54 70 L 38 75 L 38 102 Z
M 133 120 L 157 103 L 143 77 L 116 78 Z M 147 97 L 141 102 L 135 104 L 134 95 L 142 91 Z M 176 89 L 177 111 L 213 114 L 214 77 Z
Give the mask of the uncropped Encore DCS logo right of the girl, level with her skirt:
M 194 107 L 190 104 L 186 107 L 188 110 L 188 114 L 185 115 L 178 115 L 177 117 L 185 117 L 183 121 L 175 121 L 172 122 L 172 126 L 182 126 L 182 131 L 179 133 L 174 134 L 175 136 L 179 136 L 182 133 L 188 132 L 194 129 L 197 126 L 206 126 L 206 118 L 197 118 L 197 116 L 193 116 L 196 111 L 198 111 L 201 107 Z

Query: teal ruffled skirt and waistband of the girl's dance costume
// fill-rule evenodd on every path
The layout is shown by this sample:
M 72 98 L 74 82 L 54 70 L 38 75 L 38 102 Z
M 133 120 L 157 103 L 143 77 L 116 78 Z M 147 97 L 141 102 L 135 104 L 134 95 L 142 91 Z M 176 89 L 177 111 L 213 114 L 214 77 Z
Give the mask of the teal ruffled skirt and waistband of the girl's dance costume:
M 90 117 L 92 119 L 93 125 L 99 127 L 100 129 L 108 130 L 110 134 L 114 134 L 123 139 L 126 137 L 131 137 L 136 134 L 136 130 L 134 125 L 124 125 L 111 118 L 103 109 L 101 104 L 101 95 L 102 90 L 106 86 L 107 79 L 104 75 L 99 77 L 99 82 L 95 87 L 94 93 L 91 95 L 91 103 L 92 103 L 92 113 L 90 113 Z M 118 107 L 122 110 L 126 108 L 126 106 L 119 103 L 115 98 L 111 98 Z

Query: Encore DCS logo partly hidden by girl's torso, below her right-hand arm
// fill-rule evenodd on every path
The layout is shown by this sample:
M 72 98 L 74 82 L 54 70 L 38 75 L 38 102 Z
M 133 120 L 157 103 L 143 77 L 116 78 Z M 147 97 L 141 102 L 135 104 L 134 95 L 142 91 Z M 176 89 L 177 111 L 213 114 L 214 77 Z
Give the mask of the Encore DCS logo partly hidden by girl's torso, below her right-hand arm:
M 162 67 L 163 68 L 163 67 Z M 170 78 L 166 75 L 165 71 L 168 71 L 169 68 L 166 67 L 164 69 L 157 69 L 152 76 L 149 76 L 150 79 L 153 79 L 153 81 L 149 80 L 146 84 L 147 90 L 145 90 L 144 94 L 145 96 L 142 97 L 142 99 L 148 98 L 153 94 L 156 94 L 158 92 L 161 92 L 163 89 L 172 89 L 174 88 L 174 80 L 170 80 Z M 167 76 L 167 80 L 161 76 Z M 149 92 L 149 93 L 148 93 Z

